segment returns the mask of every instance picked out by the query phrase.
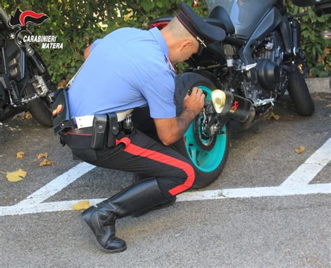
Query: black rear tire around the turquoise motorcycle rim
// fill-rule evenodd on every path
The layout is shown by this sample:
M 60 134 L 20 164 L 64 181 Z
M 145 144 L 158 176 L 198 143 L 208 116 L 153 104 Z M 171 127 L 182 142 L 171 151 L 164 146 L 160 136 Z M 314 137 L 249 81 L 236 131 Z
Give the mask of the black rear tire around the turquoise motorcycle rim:
M 189 89 L 192 89 L 192 87 L 197 87 L 197 86 L 208 87 L 211 90 L 216 89 L 214 84 L 207 77 L 203 77 L 202 75 L 196 73 L 183 73 L 182 75 L 178 75 L 176 77 L 174 101 L 177 107 L 177 115 L 181 114 L 182 112 L 183 101 L 187 91 L 189 91 Z M 226 148 L 223 154 L 223 158 L 221 163 L 219 163 L 217 168 L 215 168 L 212 172 L 203 172 L 199 170 L 196 167 L 196 165 L 193 164 L 189 156 L 189 153 L 186 150 L 184 137 L 179 139 L 177 142 L 175 142 L 175 144 L 173 144 L 175 149 L 177 149 L 177 151 L 179 151 L 180 154 L 182 154 L 192 162 L 192 165 L 196 171 L 196 181 L 193 184 L 193 188 L 202 188 L 211 184 L 219 177 L 219 175 L 223 171 L 223 168 L 226 165 L 226 161 L 228 159 L 228 153 L 230 149 L 230 128 L 228 124 L 226 127 L 227 127 L 226 134 L 223 134 L 226 135 Z

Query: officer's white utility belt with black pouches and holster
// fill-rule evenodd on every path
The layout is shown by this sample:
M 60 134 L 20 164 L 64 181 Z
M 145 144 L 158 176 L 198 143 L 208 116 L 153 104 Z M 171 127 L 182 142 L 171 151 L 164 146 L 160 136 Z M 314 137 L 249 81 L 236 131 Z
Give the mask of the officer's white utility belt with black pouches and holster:
M 55 134 L 91 136 L 92 149 L 115 147 L 116 135 L 121 131 L 132 131 L 132 110 L 71 117 L 68 90 L 61 89 L 52 104 L 53 129 Z M 61 139 L 61 144 L 65 145 Z

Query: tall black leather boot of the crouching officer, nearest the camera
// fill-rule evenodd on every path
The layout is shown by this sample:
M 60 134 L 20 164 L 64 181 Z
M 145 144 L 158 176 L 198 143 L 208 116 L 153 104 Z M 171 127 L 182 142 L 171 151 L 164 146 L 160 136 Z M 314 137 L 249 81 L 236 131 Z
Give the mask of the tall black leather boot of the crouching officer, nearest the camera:
M 115 236 L 116 219 L 145 211 L 166 201 L 156 179 L 145 179 L 89 207 L 82 213 L 81 221 L 88 225 L 96 244 L 103 251 L 117 253 L 126 250 L 126 243 Z

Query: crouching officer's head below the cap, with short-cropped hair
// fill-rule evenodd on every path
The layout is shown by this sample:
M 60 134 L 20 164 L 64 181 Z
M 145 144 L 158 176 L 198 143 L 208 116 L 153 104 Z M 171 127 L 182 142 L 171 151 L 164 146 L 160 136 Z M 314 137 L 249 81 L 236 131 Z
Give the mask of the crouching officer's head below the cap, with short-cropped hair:
M 198 40 L 185 29 L 177 17 L 173 18 L 161 30 L 161 33 L 168 45 L 169 57 L 172 64 L 186 61 L 192 54 L 197 53 L 200 48 Z

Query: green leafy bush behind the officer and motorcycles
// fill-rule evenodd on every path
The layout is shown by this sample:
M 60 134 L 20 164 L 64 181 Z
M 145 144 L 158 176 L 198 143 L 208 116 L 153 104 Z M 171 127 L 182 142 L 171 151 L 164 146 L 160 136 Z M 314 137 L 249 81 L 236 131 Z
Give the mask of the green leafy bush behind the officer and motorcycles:
M 191 0 L 185 2 L 191 4 Z M 207 15 L 202 0 L 199 2 L 200 7 L 194 10 L 199 15 Z M 177 12 L 177 3 L 179 0 L 1 0 L 1 6 L 10 14 L 18 6 L 21 10 L 34 10 L 50 17 L 29 30 L 34 35 L 56 35 L 57 42 L 64 43 L 63 50 L 42 50 L 40 44 L 34 45 L 56 82 L 61 77 L 70 79 L 74 75 L 84 61 L 85 47 L 93 40 L 120 27 L 147 27 L 149 20 Z M 299 8 L 293 5 L 288 8 L 293 13 L 299 12 Z M 301 23 L 302 47 L 307 54 L 311 75 L 328 75 L 330 53 L 321 31 L 331 28 L 330 16 L 316 17 L 309 9 L 309 16 L 302 17 Z

